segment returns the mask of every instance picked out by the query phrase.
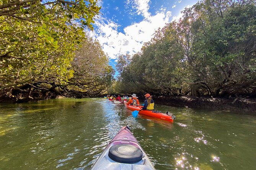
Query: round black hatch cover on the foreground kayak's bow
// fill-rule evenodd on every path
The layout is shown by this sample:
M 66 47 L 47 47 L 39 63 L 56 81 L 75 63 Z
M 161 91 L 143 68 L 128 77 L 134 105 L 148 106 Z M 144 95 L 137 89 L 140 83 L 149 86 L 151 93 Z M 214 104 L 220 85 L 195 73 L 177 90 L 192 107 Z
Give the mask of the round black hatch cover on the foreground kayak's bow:
M 115 162 L 134 164 L 142 160 L 142 151 L 131 144 L 116 144 L 109 148 L 108 156 Z

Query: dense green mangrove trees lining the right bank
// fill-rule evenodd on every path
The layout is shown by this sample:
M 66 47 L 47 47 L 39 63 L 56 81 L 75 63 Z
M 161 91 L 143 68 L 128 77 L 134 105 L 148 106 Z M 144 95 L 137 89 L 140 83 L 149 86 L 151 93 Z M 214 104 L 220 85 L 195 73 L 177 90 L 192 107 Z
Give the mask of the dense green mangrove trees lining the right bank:
M 185 8 L 182 19 L 158 29 L 132 56 L 116 89 L 159 95 L 256 95 L 255 16 L 252 0 L 202 0 Z

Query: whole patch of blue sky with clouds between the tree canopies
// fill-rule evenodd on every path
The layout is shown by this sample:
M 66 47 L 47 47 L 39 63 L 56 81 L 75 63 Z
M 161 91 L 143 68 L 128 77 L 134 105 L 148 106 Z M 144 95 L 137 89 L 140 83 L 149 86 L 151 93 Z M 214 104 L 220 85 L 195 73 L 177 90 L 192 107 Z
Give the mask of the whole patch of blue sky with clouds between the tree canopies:
M 181 11 L 198 0 L 99 0 L 102 6 L 91 35 L 101 44 L 114 67 L 119 55 L 133 55 L 155 30 L 182 17 Z

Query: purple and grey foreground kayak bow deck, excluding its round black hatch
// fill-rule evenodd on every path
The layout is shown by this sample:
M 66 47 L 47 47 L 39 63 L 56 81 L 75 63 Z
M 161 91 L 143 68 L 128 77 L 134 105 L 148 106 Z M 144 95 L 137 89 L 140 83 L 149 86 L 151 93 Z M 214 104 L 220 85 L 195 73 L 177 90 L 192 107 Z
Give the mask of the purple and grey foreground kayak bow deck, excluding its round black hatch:
M 113 160 L 112 155 L 109 154 L 111 152 L 111 148 L 114 148 L 118 145 L 131 146 L 132 148 L 141 151 L 141 159 L 139 159 L 135 163 L 122 163 L 116 162 Z M 122 150 L 122 147 L 119 148 Z M 118 149 L 117 149 L 118 150 Z M 128 152 L 127 149 L 124 152 Z M 111 157 L 111 158 L 110 158 Z M 124 158 L 126 159 L 126 158 Z M 155 170 L 149 158 L 143 151 L 139 142 L 135 139 L 132 133 L 129 130 L 129 127 L 122 127 L 121 130 L 117 133 L 117 135 L 111 140 L 109 145 L 103 151 L 99 159 L 96 161 L 95 165 L 91 168 L 91 170 Z

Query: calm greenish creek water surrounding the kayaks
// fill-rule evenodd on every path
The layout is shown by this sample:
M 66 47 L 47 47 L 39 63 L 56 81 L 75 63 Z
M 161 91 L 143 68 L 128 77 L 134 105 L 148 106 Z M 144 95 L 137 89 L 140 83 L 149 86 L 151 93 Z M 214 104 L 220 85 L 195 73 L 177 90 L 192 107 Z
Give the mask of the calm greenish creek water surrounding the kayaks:
M 0 169 L 89 170 L 128 124 L 158 170 L 252 170 L 256 116 L 157 105 L 174 123 L 133 118 L 105 99 L 0 105 Z M 103 168 L 104 169 L 104 168 Z

